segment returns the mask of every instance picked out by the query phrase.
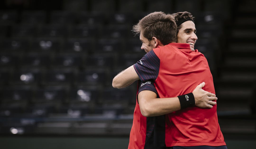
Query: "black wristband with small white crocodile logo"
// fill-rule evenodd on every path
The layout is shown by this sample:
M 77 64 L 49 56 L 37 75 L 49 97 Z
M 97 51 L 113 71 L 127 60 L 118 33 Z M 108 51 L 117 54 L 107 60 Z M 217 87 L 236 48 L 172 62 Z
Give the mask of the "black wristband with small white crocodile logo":
M 195 105 L 195 97 L 193 93 L 178 96 L 181 109 L 193 107 Z

